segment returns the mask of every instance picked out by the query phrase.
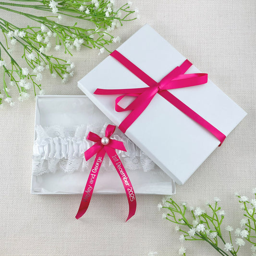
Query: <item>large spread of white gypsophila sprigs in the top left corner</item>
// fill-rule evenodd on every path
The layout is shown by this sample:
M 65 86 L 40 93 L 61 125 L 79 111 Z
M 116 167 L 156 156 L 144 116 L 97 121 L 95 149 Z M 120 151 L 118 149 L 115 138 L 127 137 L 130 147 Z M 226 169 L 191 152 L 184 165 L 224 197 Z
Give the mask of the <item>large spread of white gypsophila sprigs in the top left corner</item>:
M 3 87 L 0 87 L 0 106 L 3 102 L 14 105 L 10 89 L 18 91 L 18 100 L 29 98 L 33 94 L 43 94 L 41 82 L 44 72 L 52 77 L 60 77 L 65 83 L 73 76 L 74 63 L 56 56 L 57 51 L 72 56 L 73 51 L 82 47 L 98 49 L 99 54 L 109 51 L 107 46 L 119 43 L 119 36 L 111 32 L 122 26 L 125 21 L 136 19 L 137 12 L 126 3 L 120 8 L 114 0 L 19 0 L 0 2 L 0 12 L 13 12 L 24 16 L 35 25 L 20 27 L 12 21 L 0 17 L 0 30 L 3 41 L 0 41 L 0 75 L 3 76 Z M 36 2 L 36 4 L 34 4 Z M 20 12 L 13 7 L 23 7 Z M 19 10 L 19 9 L 18 9 Z M 38 16 L 38 11 L 49 12 L 48 16 Z M 71 24 L 61 21 L 69 18 Z M 80 22 L 86 22 L 86 27 Z M 12 49 L 20 44 L 24 51 L 21 56 L 26 65 L 21 64 L 19 56 L 12 55 Z M 12 87 L 14 86 L 14 87 Z M 12 92 L 13 93 L 13 92 Z

